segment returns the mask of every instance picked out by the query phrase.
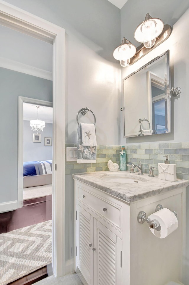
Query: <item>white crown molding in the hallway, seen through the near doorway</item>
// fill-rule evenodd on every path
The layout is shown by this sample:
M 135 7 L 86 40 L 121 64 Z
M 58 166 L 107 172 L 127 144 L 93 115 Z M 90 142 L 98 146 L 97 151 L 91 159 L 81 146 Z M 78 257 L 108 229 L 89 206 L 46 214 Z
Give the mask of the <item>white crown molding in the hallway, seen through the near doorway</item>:
M 5 57 L 0 57 L 0 67 L 44 78 L 51 81 L 53 80 L 53 75 L 52 72 L 50 71 L 43 70 Z

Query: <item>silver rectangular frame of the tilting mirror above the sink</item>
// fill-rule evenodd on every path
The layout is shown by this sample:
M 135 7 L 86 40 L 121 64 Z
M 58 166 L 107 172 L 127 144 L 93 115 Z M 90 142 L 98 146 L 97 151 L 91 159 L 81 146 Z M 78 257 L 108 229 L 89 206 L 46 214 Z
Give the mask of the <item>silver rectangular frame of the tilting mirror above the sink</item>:
M 167 100 L 167 120 L 166 120 L 166 131 L 161 131 L 161 129 L 159 131 L 151 131 L 150 133 L 139 133 L 139 134 L 131 134 L 131 135 L 126 135 L 125 133 L 125 92 L 124 92 L 124 80 L 126 80 L 127 78 L 129 78 L 130 76 L 132 76 L 133 74 L 139 72 L 141 69 L 143 69 L 144 67 L 146 67 L 147 65 L 150 65 L 152 62 L 156 61 L 157 59 L 159 59 L 160 57 L 163 57 L 164 55 L 166 55 L 166 70 L 167 70 L 167 88 L 165 90 L 166 94 L 165 94 L 165 99 Z M 138 137 L 138 136 L 148 136 L 148 135 L 154 135 L 154 134 L 160 134 L 160 133 L 171 133 L 171 95 L 170 95 L 170 50 L 165 51 L 163 54 L 159 55 L 158 57 L 152 59 L 151 61 L 147 62 L 145 65 L 143 65 L 142 67 L 140 67 L 137 71 L 134 71 L 133 73 L 131 73 L 130 75 L 126 76 L 125 78 L 123 78 L 123 138 L 132 138 L 132 137 Z M 146 96 L 149 96 L 148 94 L 146 94 Z M 167 98 L 166 98 L 167 96 Z M 139 126 L 140 128 L 140 126 Z

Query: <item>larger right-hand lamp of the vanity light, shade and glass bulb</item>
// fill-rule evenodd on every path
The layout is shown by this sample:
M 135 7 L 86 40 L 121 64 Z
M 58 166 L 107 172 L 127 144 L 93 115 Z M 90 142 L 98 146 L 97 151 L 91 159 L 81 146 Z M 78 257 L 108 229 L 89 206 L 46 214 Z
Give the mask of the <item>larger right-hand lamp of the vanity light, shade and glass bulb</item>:
M 145 20 L 136 28 L 134 38 L 149 49 L 154 46 L 156 38 L 162 33 L 163 28 L 164 23 L 162 20 L 152 18 L 149 13 L 147 13 Z

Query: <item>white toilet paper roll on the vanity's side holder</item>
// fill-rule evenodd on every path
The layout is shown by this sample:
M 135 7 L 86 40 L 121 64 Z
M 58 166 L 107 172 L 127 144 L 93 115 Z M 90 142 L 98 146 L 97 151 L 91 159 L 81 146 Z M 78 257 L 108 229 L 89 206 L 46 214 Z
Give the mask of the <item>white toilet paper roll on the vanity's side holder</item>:
M 159 239 L 164 239 L 166 236 L 175 231 L 178 227 L 177 217 L 167 208 L 159 210 L 148 217 L 150 220 L 157 220 L 159 226 L 157 230 L 150 228 L 150 231 L 154 236 L 157 236 Z

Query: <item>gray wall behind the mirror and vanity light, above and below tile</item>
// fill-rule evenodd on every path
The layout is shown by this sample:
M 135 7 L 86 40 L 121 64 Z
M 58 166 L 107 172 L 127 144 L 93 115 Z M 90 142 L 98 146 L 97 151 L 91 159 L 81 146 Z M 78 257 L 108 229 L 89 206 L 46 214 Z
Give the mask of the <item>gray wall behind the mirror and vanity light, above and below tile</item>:
M 172 133 L 162 135 L 145 136 L 143 138 L 128 138 L 123 139 L 121 131 L 121 144 L 140 144 L 149 142 L 180 142 L 189 141 L 188 121 L 189 121 L 189 97 L 188 97 L 188 77 L 189 77 L 189 59 L 188 59 L 188 27 L 189 24 L 189 1 L 162 1 L 158 5 L 154 1 L 149 0 L 128 0 L 121 9 L 121 35 L 128 37 L 134 44 L 132 36 L 136 26 L 143 20 L 143 14 L 149 12 L 153 17 L 161 18 L 164 23 L 174 24 L 173 31 L 169 39 L 161 44 L 159 47 L 151 51 L 138 63 L 127 69 L 122 69 L 121 78 L 132 73 L 134 70 L 152 58 L 157 57 L 163 51 L 170 49 L 170 64 L 171 64 L 171 80 L 172 86 L 180 86 L 182 93 L 180 98 L 171 99 L 172 104 Z M 183 14 L 185 12 L 185 14 Z M 182 15 L 183 14 L 183 15 Z M 182 15 L 182 16 L 181 16 Z M 181 16 L 181 17 L 180 17 Z M 176 20 L 180 19 L 176 22 Z M 138 44 L 139 45 L 139 44 Z M 137 45 L 137 46 L 138 46 Z M 189 285 L 189 187 L 187 187 L 186 195 L 186 252 L 184 253 L 183 266 L 185 267 L 185 276 L 183 276 L 183 283 Z

